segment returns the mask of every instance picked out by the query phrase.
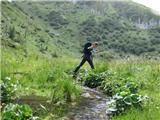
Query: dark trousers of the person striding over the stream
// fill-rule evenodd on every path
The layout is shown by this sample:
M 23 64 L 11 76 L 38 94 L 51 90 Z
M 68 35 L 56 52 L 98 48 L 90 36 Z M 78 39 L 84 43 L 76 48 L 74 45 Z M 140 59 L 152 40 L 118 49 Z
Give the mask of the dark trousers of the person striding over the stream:
M 89 65 L 91 66 L 92 69 L 94 69 L 94 65 L 93 65 L 93 58 L 91 55 L 83 55 L 83 59 L 81 61 L 81 63 L 76 67 L 76 69 L 74 70 L 74 73 L 76 74 L 78 72 L 78 70 L 83 66 L 83 64 L 85 62 L 88 62 Z

